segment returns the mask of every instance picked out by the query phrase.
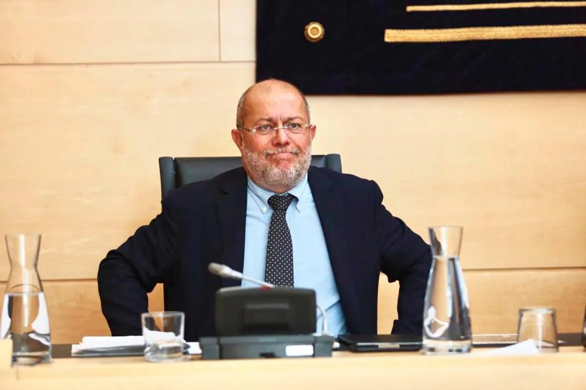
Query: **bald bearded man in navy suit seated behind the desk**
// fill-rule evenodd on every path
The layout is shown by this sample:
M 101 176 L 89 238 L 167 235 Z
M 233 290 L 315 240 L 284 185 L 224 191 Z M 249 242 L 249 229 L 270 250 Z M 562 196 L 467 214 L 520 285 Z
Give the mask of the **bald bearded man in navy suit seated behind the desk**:
M 239 282 L 210 274 L 212 262 L 315 289 L 334 335 L 377 333 L 382 271 L 400 282 L 393 333 L 421 334 L 429 246 L 384 208 L 375 182 L 310 168 L 315 132 L 293 85 L 248 88 L 231 132 L 243 168 L 171 192 L 148 226 L 101 261 L 98 289 L 112 334 L 141 334 L 147 292 L 173 278 L 167 309 L 185 312 L 186 340 L 213 335 L 214 293 Z

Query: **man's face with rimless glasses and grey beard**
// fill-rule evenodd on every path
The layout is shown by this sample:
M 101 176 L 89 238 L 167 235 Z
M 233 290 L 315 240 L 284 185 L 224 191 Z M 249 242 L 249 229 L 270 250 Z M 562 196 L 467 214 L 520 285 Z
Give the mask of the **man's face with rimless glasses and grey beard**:
M 303 99 L 294 89 L 279 86 L 249 92 L 244 127 L 298 127 L 306 124 L 308 118 Z M 268 134 L 244 129 L 232 131 L 248 175 L 274 192 L 288 191 L 305 176 L 311 163 L 314 136 L 315 126 L 308 126 L 297 134 L 282 128 Z

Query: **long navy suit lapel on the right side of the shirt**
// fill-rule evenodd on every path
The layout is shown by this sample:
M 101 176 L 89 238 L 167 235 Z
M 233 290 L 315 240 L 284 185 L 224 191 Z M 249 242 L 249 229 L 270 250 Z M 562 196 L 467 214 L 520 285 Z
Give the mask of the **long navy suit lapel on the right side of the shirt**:
M 352 251 L 348 247 L 349 234 L 352 231 L 351 223 L 347 220 L 347 210 L 339 192 L 335 191 L 335 180 L 313 167 L 309 168 L 308 175 L 346 325 L 349 330 L 357 329 L 360 307 L 356 300 L 355 279 L 352 275 Z

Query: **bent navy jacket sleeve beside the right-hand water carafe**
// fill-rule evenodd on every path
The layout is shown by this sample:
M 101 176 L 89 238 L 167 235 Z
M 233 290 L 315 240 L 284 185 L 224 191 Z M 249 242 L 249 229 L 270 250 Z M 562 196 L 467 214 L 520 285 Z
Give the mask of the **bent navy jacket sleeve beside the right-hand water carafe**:
M 430 246 L 400 218 L 383 206 L 383 194 L 374 186 L 374 218 L 379 236 L 381 271 L 389 282 L 399 282 L 398 319 L 391 333 L 423 332 L 423 306 L 431 267 Z

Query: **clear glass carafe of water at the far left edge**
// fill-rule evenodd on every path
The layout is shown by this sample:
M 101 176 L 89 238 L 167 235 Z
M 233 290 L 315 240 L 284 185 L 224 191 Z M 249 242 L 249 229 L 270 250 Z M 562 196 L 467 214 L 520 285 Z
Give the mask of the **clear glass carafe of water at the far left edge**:
M 37 263 L 40 234 L 5 236 L 10 275 L 6 282 L 0 338 L 12 339 L 12 364 L 51 360 L 49 313 Z

